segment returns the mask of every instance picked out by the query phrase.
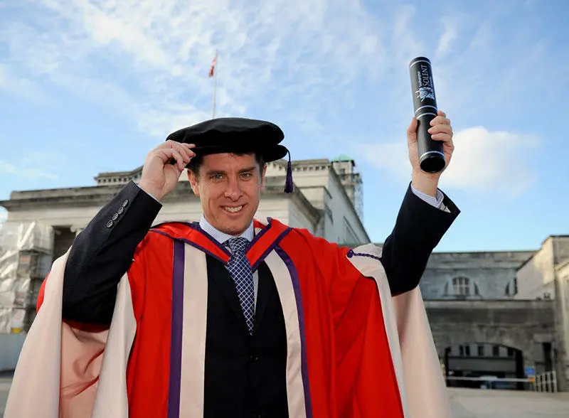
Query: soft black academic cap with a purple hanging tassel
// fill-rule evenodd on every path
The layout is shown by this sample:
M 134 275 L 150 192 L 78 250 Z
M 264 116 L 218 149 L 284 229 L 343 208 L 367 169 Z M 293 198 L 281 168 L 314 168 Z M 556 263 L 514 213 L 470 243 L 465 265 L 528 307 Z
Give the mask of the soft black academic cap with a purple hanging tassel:
M 196 144 L 197 155 L 254 152 L 265 162 L 284 158 L 289 154 L 285 192 L 292 192 L 290 153 L 280 142 L 285 134 L 271 122 L 242 117 L 210 119 L 169 134 L 166 141 Z

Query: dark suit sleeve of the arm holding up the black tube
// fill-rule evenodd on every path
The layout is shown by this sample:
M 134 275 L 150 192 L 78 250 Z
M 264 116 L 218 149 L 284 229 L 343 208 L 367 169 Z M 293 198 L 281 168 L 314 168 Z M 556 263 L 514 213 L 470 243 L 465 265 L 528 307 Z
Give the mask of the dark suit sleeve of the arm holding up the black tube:
M 442 209 L 435 208 L 408 187 L 381 254 L 394 296 L 418 286 L 432 250 L 459 215 L 459 209 L 447 195 L 442 205 Z

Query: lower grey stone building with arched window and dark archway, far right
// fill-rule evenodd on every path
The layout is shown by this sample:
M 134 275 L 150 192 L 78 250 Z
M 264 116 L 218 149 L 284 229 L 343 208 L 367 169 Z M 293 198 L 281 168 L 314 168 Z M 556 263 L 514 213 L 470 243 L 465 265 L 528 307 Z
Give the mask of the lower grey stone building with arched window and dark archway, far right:
M 558 388 L 569 390 L 569 237 L 548 237 L 533 251 L 435 252 L 420 288 L 454 378 L 554 370 Z

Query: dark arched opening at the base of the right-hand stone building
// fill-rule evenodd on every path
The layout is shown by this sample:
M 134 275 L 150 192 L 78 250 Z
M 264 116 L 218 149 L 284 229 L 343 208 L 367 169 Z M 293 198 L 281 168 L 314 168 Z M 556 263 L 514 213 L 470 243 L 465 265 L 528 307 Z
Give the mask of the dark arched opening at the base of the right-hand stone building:
M 525 377 L 523 353 L 517 348 L 491 343 L 463 343 L 445 349 L 447 386 L 523 390 L 523 382 L 493 382 L 491 387 L 472 377 Z

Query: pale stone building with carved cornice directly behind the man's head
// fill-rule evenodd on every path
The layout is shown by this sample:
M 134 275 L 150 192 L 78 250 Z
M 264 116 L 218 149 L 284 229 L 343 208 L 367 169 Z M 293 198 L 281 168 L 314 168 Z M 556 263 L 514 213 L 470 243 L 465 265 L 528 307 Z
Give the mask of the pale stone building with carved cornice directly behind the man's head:
M 292 227 L 306 228 L 331 242 L 369 242 L 361 221 L 361 177 L 353 160 L 340 157 L 293 161 L 294 192 L 285 194 L 285 161 L 267 165 L 265 191 L 257 218 L 275 218 Z M 37 191 L 14 191 L 0 201 L 9 222 L 51 225 L 55 255 L 63 253 L 105 203 L 129 181 L 138 181 L 142 167 L 133 171 L 100 173 L 95 186 Z M 166 196 L 155 223 L 199 220 L 201 205 L 193 195 L 186 172 Z

